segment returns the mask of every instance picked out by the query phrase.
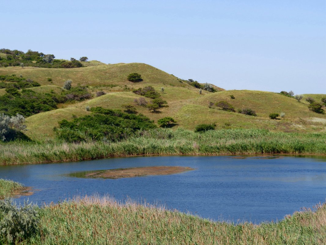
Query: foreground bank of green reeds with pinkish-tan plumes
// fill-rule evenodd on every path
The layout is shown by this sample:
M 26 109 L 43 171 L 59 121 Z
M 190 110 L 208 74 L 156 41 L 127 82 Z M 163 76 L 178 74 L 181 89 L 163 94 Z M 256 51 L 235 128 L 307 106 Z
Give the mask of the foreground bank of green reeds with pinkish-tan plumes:
M 164 208 L 85 197 L 39 210 L 22 244 L 325 244 L 326 205 L 277 223 L 211 222 Z

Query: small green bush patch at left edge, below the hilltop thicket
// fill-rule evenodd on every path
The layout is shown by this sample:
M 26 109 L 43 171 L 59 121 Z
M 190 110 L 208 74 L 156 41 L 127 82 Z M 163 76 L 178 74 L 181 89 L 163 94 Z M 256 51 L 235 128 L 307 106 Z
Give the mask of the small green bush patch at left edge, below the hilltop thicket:
M 12 75 L 3 75 L 0 76 L 0 88 L 16 88 L 16 89 L 23 89 L 23 88 L 31 88 L 31 87 L 38 87 L 41 84 L 33 81 L 29 78 L 24 77 L 17 77 L 15 74 Z

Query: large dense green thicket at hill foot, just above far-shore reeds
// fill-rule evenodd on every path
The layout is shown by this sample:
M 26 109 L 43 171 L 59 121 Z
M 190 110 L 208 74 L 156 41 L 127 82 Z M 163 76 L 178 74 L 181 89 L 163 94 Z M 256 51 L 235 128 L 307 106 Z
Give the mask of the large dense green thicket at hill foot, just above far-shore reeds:
M 54 129 L 57 138 L 74 143 L 116 142 L 139 131 L 156 128 L 154 122 L 142 114 L 127 114 L 102 107 L 92 107 L 90 111 L 94 114 L 74 118 L 73 121 L 60 121 L 59 129 Z

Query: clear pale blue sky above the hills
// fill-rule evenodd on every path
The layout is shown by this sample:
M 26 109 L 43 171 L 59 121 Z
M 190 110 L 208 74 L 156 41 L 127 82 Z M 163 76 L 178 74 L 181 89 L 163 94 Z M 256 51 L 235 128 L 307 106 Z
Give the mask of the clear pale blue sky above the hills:
M 0 48 L 141 62 L 225 89 L 326 94 L 326 1 L 2 1 Z

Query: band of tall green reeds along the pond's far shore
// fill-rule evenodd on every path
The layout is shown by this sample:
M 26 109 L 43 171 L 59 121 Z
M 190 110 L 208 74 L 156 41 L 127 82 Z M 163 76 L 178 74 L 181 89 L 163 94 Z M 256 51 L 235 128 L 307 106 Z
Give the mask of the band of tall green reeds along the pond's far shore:
M 326 154 L 326 133 L 284 133 L 268 130 L 156 129 L 118 143 L 59 141 L 0 144 L 0 164 L 79 161 L 115 156 L 226 155 L 226 154 Z

